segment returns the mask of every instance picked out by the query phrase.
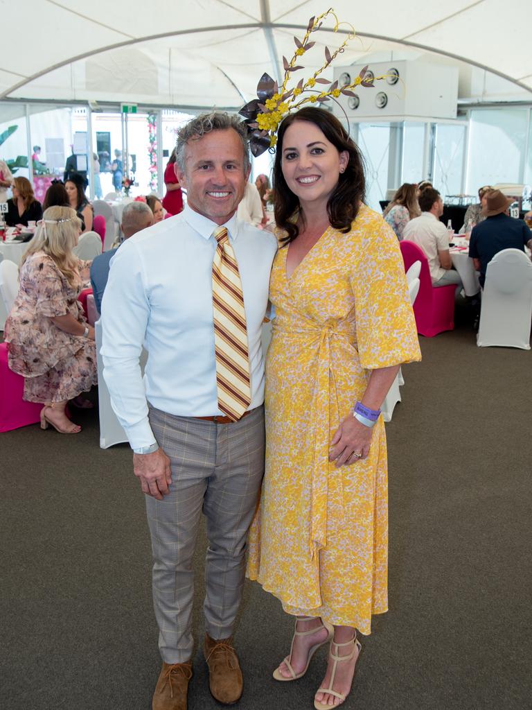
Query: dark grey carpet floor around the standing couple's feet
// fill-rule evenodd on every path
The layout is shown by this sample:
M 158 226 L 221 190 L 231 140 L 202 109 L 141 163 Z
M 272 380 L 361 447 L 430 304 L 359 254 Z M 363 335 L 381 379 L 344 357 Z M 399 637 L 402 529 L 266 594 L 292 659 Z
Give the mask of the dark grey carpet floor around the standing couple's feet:
M 532 352 L 477 349 L 457 329 L 421 338 L 387 425 L 390 611 L 362 638 L 346 709 L 532 706 Z M 0 435 L 0 706 L 148 710 L 160 657 L 143 496 L 126 445 L 99 449 L 94 412 L 75 437 Z M 196 550 L 196 638 L 206 540 Z M 325 667 L 278 684 L 292 621 L 247 582 L 235 643 L 239 710 L 300 710 Z M 189 710 L 220 707 L 198 647 Z

